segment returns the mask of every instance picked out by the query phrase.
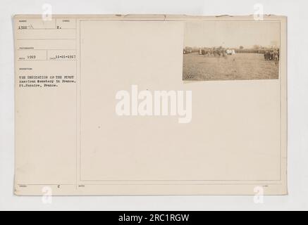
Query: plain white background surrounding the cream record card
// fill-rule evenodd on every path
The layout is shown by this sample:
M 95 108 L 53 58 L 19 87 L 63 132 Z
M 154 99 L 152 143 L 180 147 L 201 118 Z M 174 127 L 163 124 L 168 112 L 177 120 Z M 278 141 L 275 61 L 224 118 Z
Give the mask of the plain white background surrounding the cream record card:
M 44 205 L 41 197 L 13 195 L 13 30 L 14 14 L 42 13 L 47 1 L 2 0 L 0 8 L 0 210 L 308 210 L 308 32 L 307 1 L 297 0 L 135 0 L 52 1 L 53 13 L 168 13 L 187 15 L 247 15 L 254 4 L 265 14 L 288 16 L 288 191 L 266 196 L 109 196 L 57 197 Z

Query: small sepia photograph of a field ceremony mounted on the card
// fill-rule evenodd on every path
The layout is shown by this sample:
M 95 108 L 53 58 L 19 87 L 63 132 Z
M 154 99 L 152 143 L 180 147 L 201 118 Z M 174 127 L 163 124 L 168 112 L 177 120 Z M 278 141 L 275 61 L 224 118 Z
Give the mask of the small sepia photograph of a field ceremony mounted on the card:
M 276 21 L 187 22 L 183 80 L 278 79 L 280 35 Z

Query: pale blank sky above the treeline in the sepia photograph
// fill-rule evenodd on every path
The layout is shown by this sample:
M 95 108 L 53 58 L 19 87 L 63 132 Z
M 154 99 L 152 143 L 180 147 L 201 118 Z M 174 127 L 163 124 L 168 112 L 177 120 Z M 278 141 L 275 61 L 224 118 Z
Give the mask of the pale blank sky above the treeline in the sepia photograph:
M 184 46 L 252 48 L 280 46 L 280 23 L 270 21 L 191 21 L 185 25 Z

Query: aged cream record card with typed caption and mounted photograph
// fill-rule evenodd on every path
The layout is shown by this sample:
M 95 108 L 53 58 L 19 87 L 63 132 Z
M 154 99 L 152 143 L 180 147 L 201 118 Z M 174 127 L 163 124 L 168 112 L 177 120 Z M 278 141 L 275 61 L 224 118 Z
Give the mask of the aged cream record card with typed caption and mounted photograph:
M 286 18 L 16 15 L 16 195 L 287 193 Z

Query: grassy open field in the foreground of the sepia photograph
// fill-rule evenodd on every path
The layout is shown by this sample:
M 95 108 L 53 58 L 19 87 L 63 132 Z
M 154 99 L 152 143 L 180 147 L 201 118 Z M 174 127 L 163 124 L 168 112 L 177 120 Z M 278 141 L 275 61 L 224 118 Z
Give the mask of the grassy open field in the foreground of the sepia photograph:
M 279 66 L 261 53 L 231 56 L 183 55 L 183 80 L 278 79 Z

